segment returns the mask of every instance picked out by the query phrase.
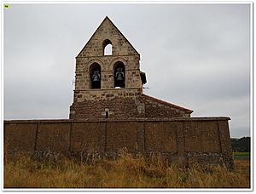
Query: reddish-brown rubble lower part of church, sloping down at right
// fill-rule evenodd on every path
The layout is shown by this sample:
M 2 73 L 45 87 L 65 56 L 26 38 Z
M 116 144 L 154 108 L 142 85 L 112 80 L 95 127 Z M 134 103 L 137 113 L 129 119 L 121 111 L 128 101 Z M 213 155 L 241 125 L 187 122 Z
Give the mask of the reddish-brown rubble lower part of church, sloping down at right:
M 113 89 L 106 94 L 103 91 L 101 97 L 91 94 L 90 100 L 73 103 L 70 107 L 70 118 L 105 118 L 105 110 L 108 109 L 108 117 L 117 120 L 158 117 L 190 117 L 192 111 L 180 106 L 172 105 L 162 100 L 155 99 L 145 94 L 137 95 L 136 90 Z M 115 93 L 114 93 L 115 92 Z M 136 94 L 134 94 L 136 93 Z M 82 93 L 77 94 L 82 95 Z

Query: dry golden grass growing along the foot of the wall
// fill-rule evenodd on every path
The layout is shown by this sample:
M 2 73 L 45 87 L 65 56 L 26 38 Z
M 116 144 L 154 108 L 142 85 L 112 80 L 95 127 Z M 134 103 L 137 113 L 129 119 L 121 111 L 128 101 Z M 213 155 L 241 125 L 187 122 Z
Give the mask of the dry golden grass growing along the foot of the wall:
M 250 163 L 236 161 L 236 170 L 193 164 L 166 165 L 160 157 L 146 163 L 129 154 L 115 161 L 79 164 L 72 160 L 38 162 L 30 157 L 4 164 L 4 188 L 249 188 Z

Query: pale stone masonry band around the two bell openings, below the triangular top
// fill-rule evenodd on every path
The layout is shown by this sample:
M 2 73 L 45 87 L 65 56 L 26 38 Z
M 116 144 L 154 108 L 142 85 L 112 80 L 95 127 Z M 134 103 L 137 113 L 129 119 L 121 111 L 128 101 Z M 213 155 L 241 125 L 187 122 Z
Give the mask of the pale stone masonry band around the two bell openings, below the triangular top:
M 91 90 L 90 86 L 90 66 L 97 63 L 101 66 L 101 88 L 114 88 L 113 66 L 117 62 L 125 65 L 125 88 L 142 88 L 142 81 L 139 69 L 139 56 L 97 56 L 77 58 L 75 90 Z M 94 90 L 94 89 L 93 89 Z

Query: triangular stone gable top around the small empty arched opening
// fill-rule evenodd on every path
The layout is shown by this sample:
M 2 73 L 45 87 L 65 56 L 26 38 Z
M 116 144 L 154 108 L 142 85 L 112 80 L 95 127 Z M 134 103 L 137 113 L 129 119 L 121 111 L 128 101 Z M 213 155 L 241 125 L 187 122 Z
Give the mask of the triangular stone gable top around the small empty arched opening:
M 106 16 L 77 57 L 101 56 L 102 43 L 106 39 L 109 39 L 113 45 L 113 55 L 138 54 L 122 32 Z

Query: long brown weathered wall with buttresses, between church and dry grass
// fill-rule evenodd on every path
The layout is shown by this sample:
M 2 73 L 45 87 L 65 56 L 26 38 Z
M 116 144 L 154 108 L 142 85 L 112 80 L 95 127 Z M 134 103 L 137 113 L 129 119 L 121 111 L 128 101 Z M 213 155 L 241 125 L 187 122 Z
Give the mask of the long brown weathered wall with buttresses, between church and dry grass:
M 6 151 L 160 152 L 233 167 L 228 117 L 5 121 Z

